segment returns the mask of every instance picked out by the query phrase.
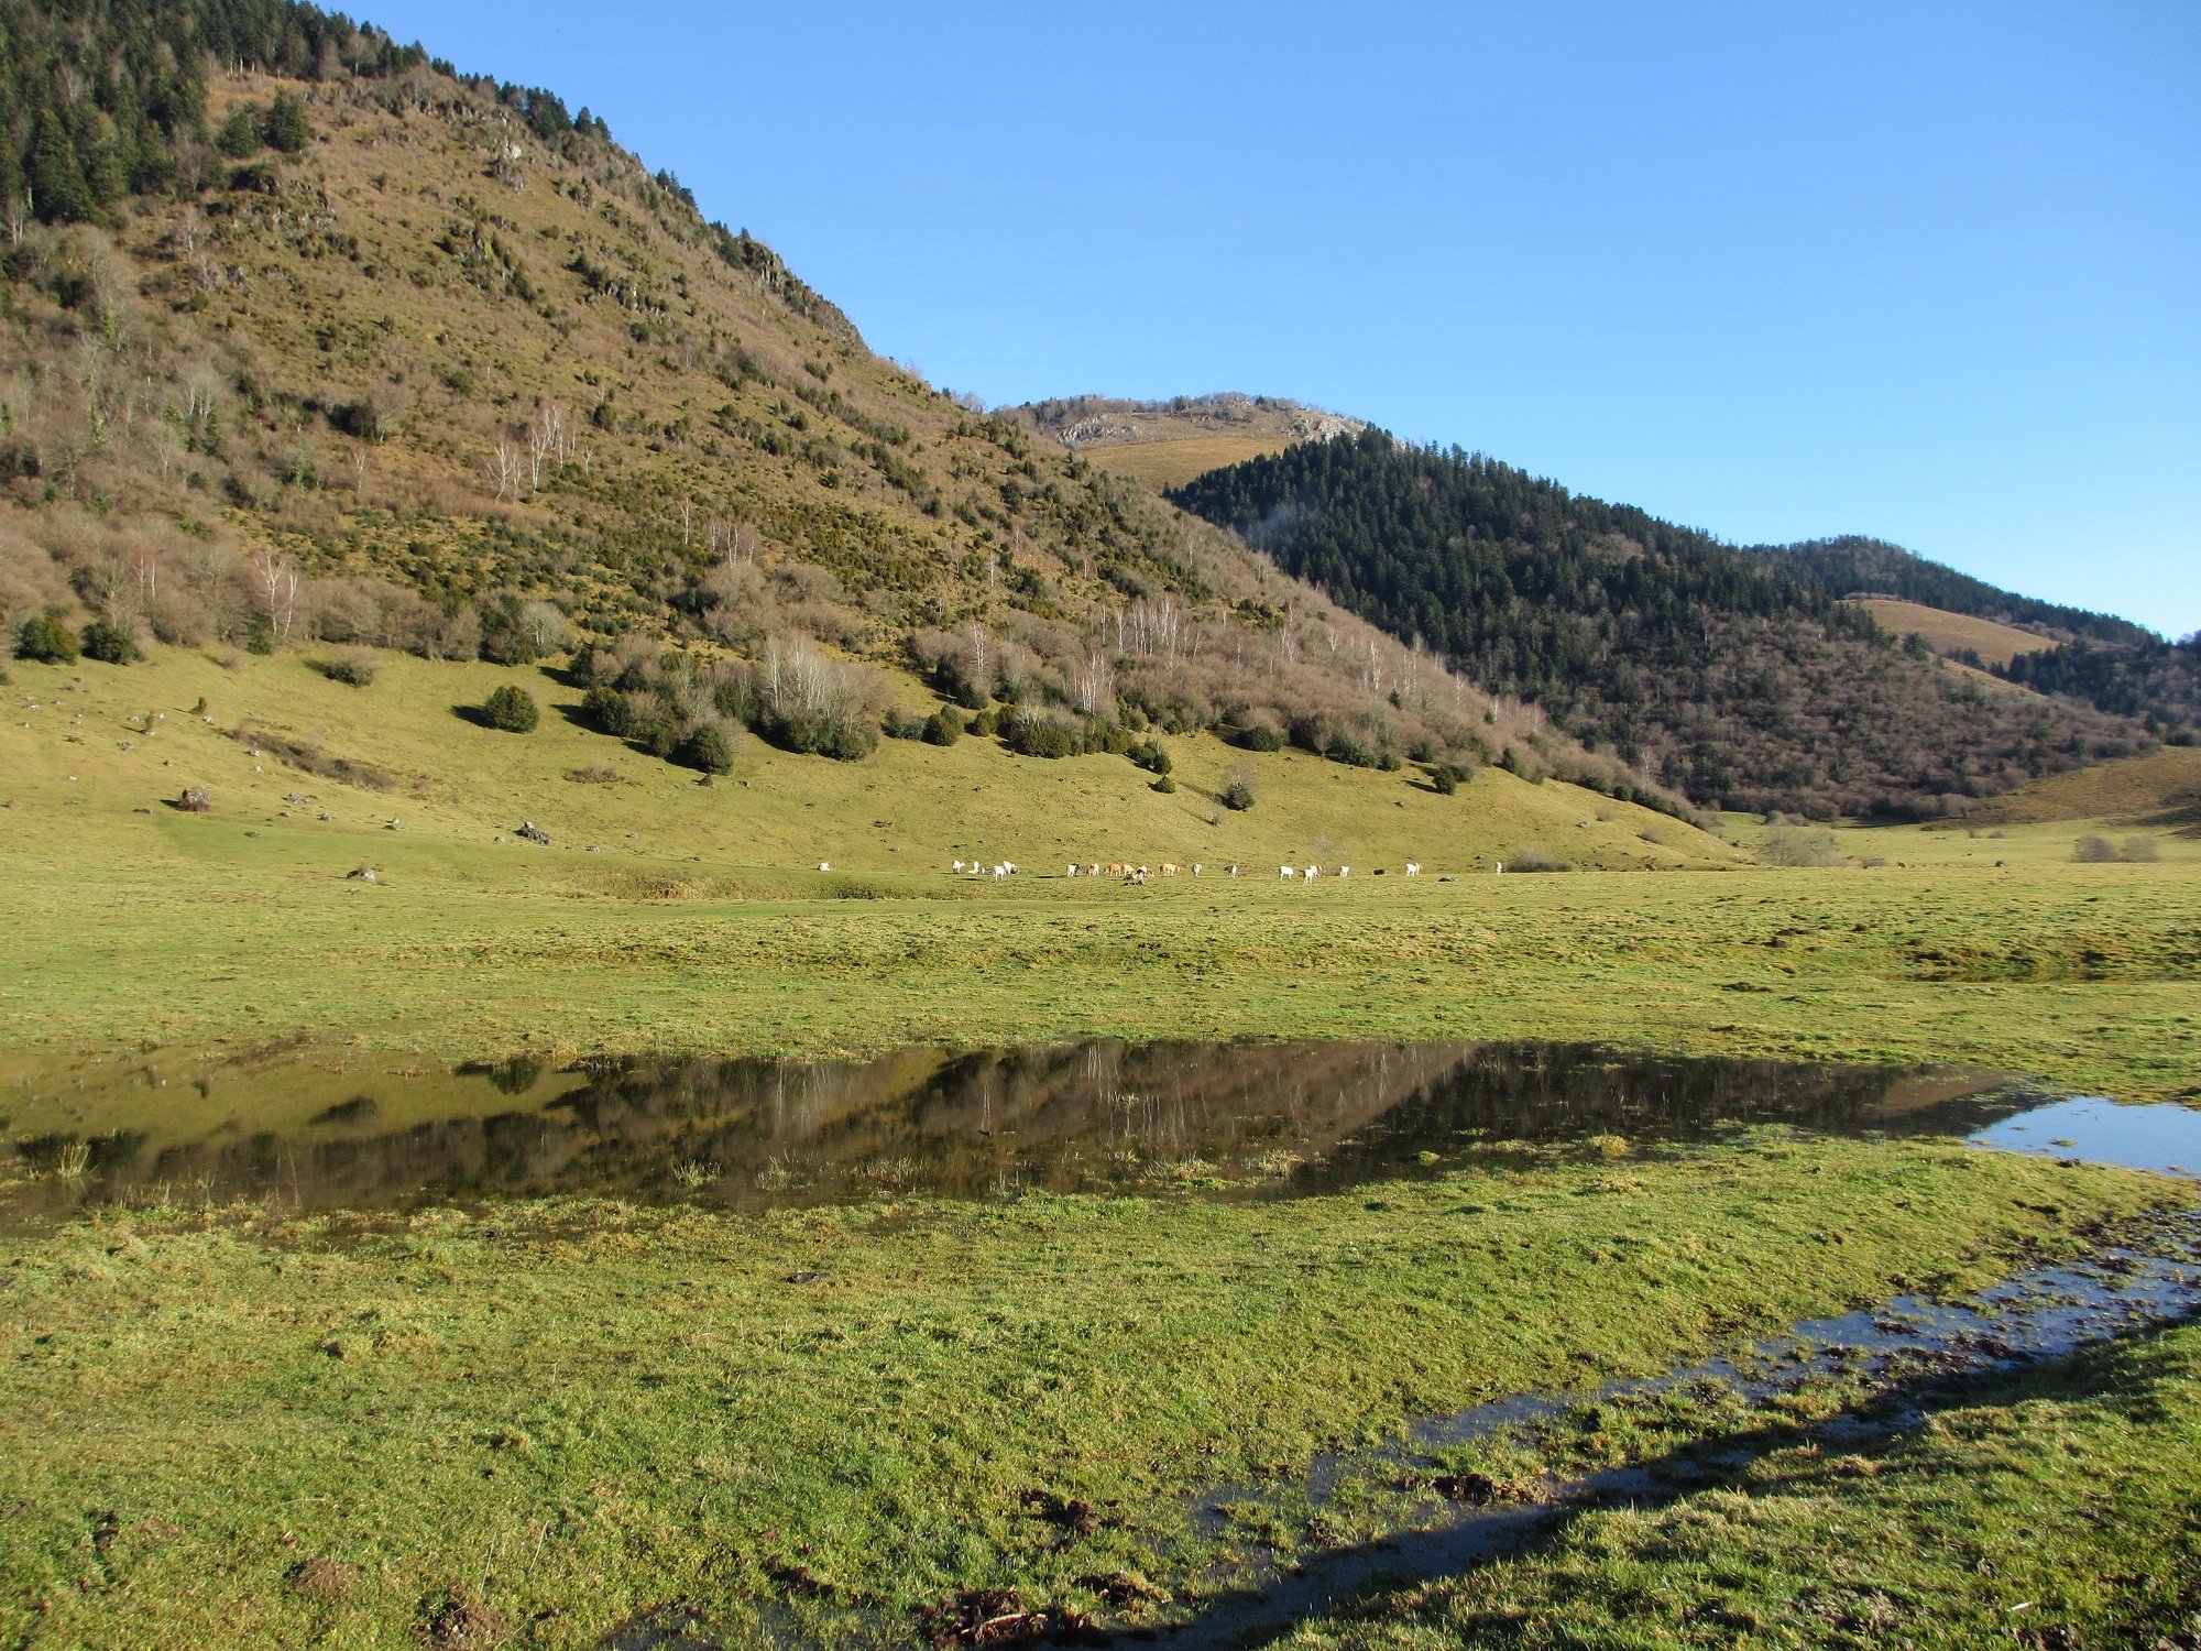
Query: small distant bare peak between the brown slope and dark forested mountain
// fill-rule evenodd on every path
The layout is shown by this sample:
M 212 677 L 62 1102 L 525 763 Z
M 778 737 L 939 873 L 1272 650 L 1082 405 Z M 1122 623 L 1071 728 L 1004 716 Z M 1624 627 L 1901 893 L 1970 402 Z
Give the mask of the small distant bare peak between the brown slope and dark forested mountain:
M 1202 471 L 1281 453 L 1292 442 L 1367 429 L 1360 418 L 1283 396 L 1235 392 L 1169 401 L 1063 396 L 1001 412 L 1072 451 L 1089 453 L 1103 469 L 1156 489 L 1182 486 Z

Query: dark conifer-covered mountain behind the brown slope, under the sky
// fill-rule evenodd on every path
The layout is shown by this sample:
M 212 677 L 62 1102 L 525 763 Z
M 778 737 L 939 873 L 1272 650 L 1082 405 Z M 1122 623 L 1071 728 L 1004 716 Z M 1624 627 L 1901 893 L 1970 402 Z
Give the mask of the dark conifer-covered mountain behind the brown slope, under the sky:
M 1963 812 L 2150 746 L 2131 722 L 1895 643 L 1809 559 L 1737 550 L 1459 449 L 1367 429 L 1171 498 L 1699 803 Z

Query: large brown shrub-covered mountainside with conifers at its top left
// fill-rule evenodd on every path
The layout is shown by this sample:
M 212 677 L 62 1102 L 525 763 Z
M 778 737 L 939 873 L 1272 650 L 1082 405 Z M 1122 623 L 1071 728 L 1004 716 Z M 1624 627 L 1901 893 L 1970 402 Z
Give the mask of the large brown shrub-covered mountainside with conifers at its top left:
M 0 26 L 11 630 L 570 649 L 601 726 L 698 759 L 740 724 L 861 757 L 920 671 L 1050 755 L 1296 729 L 1686 812 L 883 361 L 555 92 L 288 0 L 9 0 Z

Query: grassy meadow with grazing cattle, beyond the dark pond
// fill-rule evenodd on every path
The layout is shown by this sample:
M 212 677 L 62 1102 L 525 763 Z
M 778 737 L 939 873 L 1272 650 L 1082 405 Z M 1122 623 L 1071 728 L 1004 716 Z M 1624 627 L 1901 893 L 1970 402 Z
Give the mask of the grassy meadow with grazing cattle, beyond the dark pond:
M 502 680 L 544 700 L 537 733 L 453 713 Z M 2078 865 L 2071 821 L 1851 830 L 1849 865 L 1774 870 L 1741 823 L 1723 841 L 1501 770 L 1439 797 L 1411 768 L 1206 737 L 1169 742 L 1175 795 L 1120 757 L 977 737 L 861 764 L 744 742 L 700 784 L 577 726 L 577 700 L 535 669 L 396 656 L 365 689 L 284 656 L 18 663 L 0 1024 L 18 1043 L 313 1030 L 449 1059 L 1558 1037 L 1963 1061 L 2131 1098 L 2201 1072 L 2201 843 L 2172 832 L 2155 863 Z M 284 764 L 251 744 L 266 733 L 383 788 Z M 1235 762 L 1248 812 L 1211 799 Z M 211 812 L 169 808 L 185 786 Z M 515 841 L 522 821 L 552 845 Z M 1497 874 L 1527 848 L 1580 870 Z M 953 859 L 1026 872 L 957 878 Z M 1072 859 L 1204 874 L 1123 887 L 1065 878 Z M 1233 859 L 1244 876 L 1217 876 Z M 1279 883 L 1310 859 L 1354 876 Z

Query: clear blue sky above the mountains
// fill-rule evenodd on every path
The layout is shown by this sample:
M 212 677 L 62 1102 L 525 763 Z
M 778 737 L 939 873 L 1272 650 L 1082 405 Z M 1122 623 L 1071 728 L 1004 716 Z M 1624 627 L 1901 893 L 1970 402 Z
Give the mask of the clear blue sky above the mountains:
M 398 0 L 986 401 L 1257 390 L 2201 630 L 2201 4 Z

